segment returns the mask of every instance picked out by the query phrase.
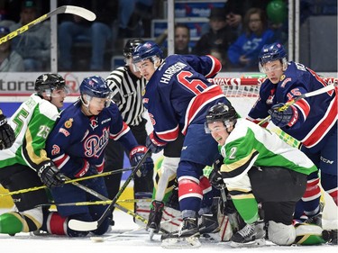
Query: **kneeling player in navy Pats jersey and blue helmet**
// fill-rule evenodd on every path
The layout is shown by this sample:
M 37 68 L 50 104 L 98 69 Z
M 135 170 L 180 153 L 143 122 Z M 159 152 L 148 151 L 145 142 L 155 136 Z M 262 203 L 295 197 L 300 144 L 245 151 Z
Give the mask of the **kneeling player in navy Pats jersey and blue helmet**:
M 60 114 L 59 121 L 46 143 L 47 154 L 56 167 L 69 178 L 101 173 L 109 138 L 123 143 L 124 149 L 129 151 L 132 166 L 136 166 L 147 148 L 137 143 L 130 128 L 123 122 L 117 105 L 111 104 L 112 94 L 105 79 L 98 76 L 87 77 L 82 81 L 79 90 L 78 101 Z M 141 169 L 152 167 L 152 159 L 147 158 Z M 106 197 L 108 195 L 103 177 L 85 180 L 82 184 Z M 55 203 L 97 200 L 71 184 L 53 187 L 50 192 Z M 95 221 L 105 209 L 105 205 L 59 206 L 58 212 L 51 212 L 48 217 L 44 217 L 42 230 L 70 237 L 86 236 L 89 231 L 70 230 L 68 219 Z M 104 234 L 110 224 L 108 218 L 92 232 Z

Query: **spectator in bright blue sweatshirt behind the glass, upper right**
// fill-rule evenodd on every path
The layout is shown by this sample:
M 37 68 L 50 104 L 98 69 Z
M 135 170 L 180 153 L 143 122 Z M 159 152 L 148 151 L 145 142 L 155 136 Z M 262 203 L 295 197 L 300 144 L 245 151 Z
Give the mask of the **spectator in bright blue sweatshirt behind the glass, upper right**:
M 266 15 L 261 9 L 248 10 L 244 16 L 244 32 L 228 50 L 228 58 L 234 68 L 258 70 L 260 49 L 274 40 L 274 33 L 267 26 Z

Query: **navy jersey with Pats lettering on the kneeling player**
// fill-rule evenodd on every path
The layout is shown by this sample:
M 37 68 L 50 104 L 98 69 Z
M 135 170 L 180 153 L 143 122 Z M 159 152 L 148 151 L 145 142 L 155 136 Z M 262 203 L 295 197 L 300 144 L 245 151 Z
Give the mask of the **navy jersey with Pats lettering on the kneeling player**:
M 102 171 L 104 150 L 109 138 L 121 140 L 129 151 L 138 146 L 116 104 L 110 104 L 97 116 L 88 117 L 81 112 L 81 103 L 78 101 L 60 114 L 50 132 L 46 150 L 62 173 L 77 177 L 84 161 Z

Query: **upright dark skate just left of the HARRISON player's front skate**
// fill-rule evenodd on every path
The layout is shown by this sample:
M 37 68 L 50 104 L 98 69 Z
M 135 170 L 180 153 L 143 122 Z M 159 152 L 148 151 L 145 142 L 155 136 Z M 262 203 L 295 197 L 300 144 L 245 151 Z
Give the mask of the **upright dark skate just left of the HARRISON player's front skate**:
M 148 224 L 146 230 L 149 230 L 150 239 L 153 238 L 154 233 L 160 231 L 160 220 L 162 219 L 164 203 L 161 201 L 152 201 L 151 213 L 149 214 Z

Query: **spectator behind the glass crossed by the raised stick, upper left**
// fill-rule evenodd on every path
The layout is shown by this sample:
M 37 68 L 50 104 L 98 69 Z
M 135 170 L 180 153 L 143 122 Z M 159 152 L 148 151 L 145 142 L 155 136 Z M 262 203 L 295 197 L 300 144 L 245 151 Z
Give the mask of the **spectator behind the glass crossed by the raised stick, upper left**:
M 37 14 L 35 2 L 24 1 L 21 6 L 20 22 L 10 26 L 11 32 L 31 23 L 38 17 Z M 13 39 L 13 48 L 23 57 L 26 71 L 47 70 L 46 66 L 50 66 L 50 27 L 45 23 L 36 24 Z

